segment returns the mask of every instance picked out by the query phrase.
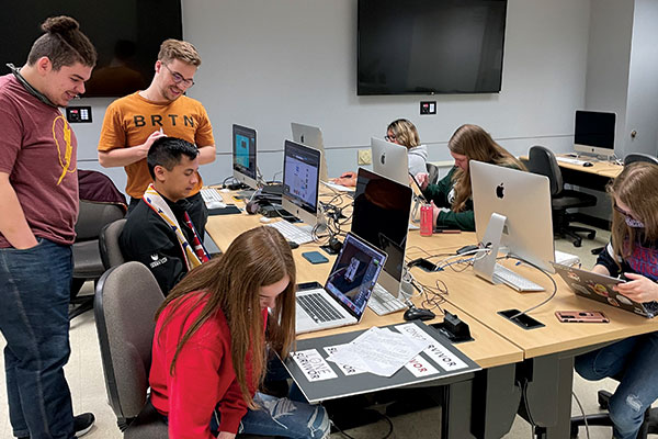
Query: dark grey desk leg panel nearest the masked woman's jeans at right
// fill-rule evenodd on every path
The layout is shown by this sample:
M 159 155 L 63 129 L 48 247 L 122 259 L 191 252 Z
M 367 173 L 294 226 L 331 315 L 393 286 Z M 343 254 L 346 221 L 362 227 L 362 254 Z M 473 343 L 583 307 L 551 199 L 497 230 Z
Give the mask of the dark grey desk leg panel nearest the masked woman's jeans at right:
M 574 357 L 558 354 L 527 360 L 520 376 L 526 382 L 520 415 L 542 428 L 537 438 L 564 439 L 570 435 Z M 523 382 L 522 381 L 522 382 Z M 530 413 L 527 413 L 530 412 Z

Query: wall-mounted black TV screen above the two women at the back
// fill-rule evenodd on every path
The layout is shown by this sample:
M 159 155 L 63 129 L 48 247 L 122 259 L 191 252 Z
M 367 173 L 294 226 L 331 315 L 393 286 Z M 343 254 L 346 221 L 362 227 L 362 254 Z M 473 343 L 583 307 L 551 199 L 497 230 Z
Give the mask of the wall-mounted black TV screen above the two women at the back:
M 500 91 L 507 0 L 359 0 L 358 94 Z

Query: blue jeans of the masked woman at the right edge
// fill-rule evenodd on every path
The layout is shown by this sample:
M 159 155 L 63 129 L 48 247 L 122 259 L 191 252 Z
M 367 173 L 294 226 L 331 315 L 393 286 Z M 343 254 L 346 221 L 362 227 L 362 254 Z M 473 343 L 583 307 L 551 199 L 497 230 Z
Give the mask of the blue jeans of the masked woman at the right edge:
M 635 439 L 644 412 L 658 398 L 658 333 L 631 337 L 576 357 L 576 371 L 586 380 L 615 378 L 610 398 L 614 437 Z

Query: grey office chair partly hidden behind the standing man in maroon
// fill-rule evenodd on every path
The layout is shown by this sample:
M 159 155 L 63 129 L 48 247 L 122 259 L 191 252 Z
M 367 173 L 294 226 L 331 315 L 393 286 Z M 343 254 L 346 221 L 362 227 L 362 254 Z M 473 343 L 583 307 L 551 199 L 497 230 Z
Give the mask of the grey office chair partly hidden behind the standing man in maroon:
M 106 224 L 123 218 L 124 215 L 125 210 L 122 205 L 80 200 L 80 213 L 76 223 L 77 236 L 72 246 L 71 303 L 77 306 L 69 312 L 69 319 L 93 306 L 92 295 L 77 297 L 78 292 L 86 281 L 97 282 L 105 271 L 99 250 L 99 236 Z

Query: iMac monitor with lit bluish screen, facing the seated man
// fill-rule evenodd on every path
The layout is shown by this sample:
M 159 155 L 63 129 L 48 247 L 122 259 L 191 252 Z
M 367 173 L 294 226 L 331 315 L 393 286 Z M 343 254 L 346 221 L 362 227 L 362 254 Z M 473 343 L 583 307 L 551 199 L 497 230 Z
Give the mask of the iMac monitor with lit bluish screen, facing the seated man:
M 317 223 L 318 216 L 321 156 L 317 149 L 285 140 L 281 204 L 284 210 L 310 225 Z

